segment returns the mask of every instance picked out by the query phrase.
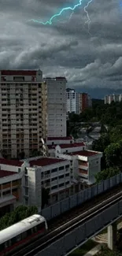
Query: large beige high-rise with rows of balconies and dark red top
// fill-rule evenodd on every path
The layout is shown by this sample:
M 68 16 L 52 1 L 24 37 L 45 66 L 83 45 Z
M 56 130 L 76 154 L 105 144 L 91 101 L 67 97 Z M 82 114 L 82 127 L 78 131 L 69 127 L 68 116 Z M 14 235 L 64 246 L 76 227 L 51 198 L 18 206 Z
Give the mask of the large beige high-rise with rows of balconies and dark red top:
M 42 71 L 0 71 L 0 150 L 10 158 L 41 150 L 41 138 L 46 138 L 46 98 Z

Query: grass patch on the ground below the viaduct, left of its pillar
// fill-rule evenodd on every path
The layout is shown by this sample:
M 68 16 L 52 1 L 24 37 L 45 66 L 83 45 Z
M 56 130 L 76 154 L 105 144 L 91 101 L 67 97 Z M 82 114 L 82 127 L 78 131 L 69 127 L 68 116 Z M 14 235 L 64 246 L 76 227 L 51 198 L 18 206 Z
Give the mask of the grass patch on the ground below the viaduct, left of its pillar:
M 96 247 L 98 245 L 97 242 L 93 240 L 88 240 L 87 243 L 84 243 L 82 247 L 79 247 L 79 249 L 76 249 L 70 254 L 71 256 L 83 256 L 84 254 L 87 254 L 89 250 Z

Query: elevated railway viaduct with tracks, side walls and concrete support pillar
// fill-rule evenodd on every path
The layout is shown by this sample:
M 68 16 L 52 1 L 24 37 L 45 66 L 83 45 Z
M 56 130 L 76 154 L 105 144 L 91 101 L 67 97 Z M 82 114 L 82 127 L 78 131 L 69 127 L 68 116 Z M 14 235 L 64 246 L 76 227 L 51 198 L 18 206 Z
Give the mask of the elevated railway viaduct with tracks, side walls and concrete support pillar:
M 18 256 L 67 256 L 108 227 L 108 247 L 116 243 L 116 221 L 122 217 L 122 173 L 80 191 L 41 214 L 49 230 Z M 13 256 L 15 256 L 13 255 Z

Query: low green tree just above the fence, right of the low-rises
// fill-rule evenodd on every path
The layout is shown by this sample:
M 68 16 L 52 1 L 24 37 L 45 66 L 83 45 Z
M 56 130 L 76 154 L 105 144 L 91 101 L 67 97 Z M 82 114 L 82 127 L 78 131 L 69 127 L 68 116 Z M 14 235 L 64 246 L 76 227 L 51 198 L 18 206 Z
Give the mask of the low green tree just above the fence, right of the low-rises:
M 110 177 L 115 176 L 116 174 L 120 173 L 120 169 L 119 168 L 107 168 L 105 170 L 102 170 L 101 172 L 97 173 L 95 175 L 95 180 L 96 183 L 100 183 L 102 180 L 106 180 Z

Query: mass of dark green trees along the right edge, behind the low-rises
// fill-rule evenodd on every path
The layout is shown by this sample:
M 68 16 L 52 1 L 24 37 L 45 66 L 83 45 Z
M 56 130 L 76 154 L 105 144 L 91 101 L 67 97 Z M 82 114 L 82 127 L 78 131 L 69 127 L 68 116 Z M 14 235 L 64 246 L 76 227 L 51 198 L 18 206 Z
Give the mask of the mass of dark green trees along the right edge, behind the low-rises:
M 69 114 L 68 135 L 77 138 L 81 122 L 96 121 L 101 124 L 101 137 L 94 140 L 92 149 L 103 152 L 102 172 L 96 176 L 96 181 L 100 182 L 122 170 L 122 102 L 112 102 L 110 105 L 94 102 L 92 109 L 86 109 L 79 115 Z

